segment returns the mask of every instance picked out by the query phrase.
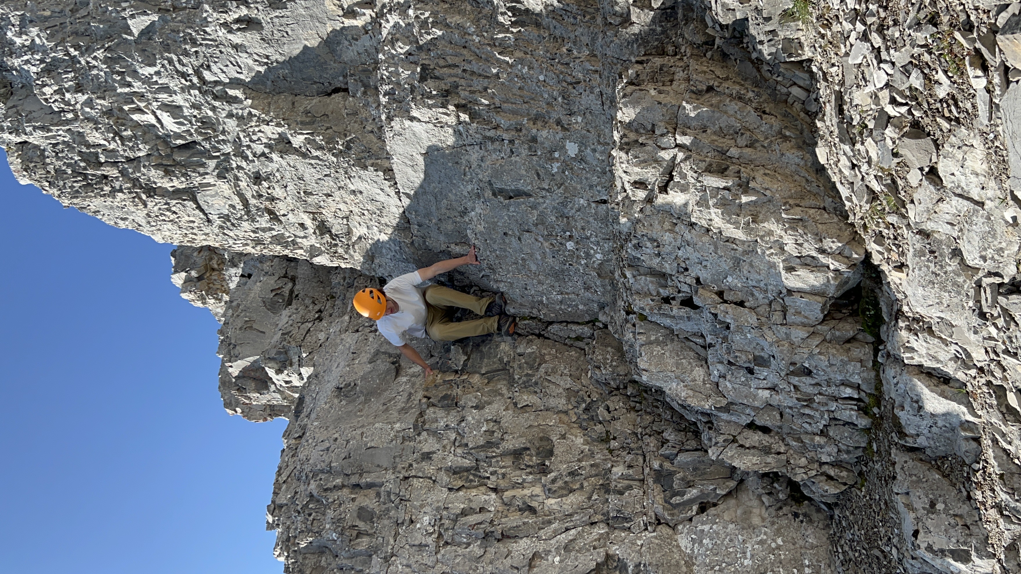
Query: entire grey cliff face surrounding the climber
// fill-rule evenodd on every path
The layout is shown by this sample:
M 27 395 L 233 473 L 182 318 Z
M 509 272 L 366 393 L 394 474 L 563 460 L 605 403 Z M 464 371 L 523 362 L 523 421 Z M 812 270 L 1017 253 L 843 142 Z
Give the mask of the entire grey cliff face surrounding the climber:
M 0 142 L 182 245 L 287 572 L 1021 572 L 1019 14 L 9 2 Z M 423 380 L 350 297 L 472 244 Z

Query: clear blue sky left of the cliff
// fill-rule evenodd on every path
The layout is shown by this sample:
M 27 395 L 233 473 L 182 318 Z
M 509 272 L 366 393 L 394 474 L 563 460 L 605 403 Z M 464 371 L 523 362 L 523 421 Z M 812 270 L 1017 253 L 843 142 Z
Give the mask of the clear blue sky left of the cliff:
M 284 420 L 230 417 L 172 245 L 64 209 L 0 155 L 0 572 L 280 573 Z

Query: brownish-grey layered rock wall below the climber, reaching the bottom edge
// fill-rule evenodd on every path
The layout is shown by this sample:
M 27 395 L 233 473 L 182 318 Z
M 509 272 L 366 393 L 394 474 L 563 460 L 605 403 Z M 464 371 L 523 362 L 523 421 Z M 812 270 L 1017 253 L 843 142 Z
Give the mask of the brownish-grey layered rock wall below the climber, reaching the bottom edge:
M 442 371 L 424 379 L 346 303 L 375 279 L 264 256 L 244 269 L 225 346 L 291 331 L 287 317 L 317 366 L 289 404 L 269 508 L 286 571 L 833 572 L 827 514 L 779 473 L 714 460 L 662 392 L 631 380 L 604 326 L 530 320 L 517 338 L 417 341 Z M 252 296 L 282 279 L 290 302 Z M 272 378 L 280 343 L 263 341 L 249 365 Z M 222 387 L 253 401 L 245 416 L 269 403 L 252 379 Z M 262 397 L 286 392 L 275 380 Z

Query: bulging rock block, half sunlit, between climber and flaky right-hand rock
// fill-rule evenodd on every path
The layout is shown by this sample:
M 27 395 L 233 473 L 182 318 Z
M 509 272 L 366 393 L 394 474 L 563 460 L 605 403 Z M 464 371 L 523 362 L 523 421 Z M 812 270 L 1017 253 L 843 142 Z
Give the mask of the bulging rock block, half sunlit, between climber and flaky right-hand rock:
M 831 498 L 858 482 L 871 426 L 873 338 L 842 298 L 865 249 L 809 126 L 689 50 L 636 64 L 619 89 L 627 280 L 603 316 L 640 380 L 699 421 L 714 458 Z

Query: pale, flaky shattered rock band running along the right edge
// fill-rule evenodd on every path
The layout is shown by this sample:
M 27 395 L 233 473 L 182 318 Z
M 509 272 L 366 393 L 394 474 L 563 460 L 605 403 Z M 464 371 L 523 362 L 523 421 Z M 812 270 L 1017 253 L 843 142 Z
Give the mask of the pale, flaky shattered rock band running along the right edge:
M 817 154 L 885 282 L 880 375 L 895 421 L 873 433 L 886 456 L 865 474 L 887 494 L 848 492 L 858 520 L 837 530 L 884 552 L 854 552 L 849 570 L 889 553 L 908 571 L 1018 571 L 1017 6 L 717 8 L 720 48 L 818 110 Z M 866 516 L 881 534 L 859 526 Z

